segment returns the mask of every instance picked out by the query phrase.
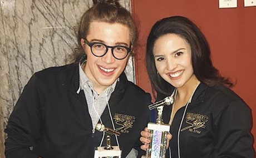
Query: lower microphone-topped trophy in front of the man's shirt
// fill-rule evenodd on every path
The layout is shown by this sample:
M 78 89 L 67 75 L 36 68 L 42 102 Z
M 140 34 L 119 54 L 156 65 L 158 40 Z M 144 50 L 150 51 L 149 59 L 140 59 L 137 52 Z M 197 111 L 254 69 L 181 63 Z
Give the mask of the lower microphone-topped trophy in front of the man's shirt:
M 111 146 L 111 135 L 120 136 L 120 132 L 105 127 L 103 124 L 97 124 L 96 130 L 106 132 L 106 146 L 97 147 L 94 158 L 121 158 L 121 150 L 119 146 Z

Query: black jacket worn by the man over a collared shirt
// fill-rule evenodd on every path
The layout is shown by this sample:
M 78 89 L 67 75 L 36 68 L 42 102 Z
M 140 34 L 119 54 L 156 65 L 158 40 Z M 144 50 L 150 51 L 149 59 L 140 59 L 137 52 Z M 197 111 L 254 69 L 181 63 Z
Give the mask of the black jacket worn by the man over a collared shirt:
M 93 134 L 85 95 L 82 90 L 76 93 L 79 86 L 78 63 L 35 73 L 9 118 L 6 157 L 93 157 L 102 132 Z M 140 131 L 149 121 L 149 104 L 150 95 L 122 73 L 109 99 L 115 128 L 121 132 L 122 157 L 132 147 L 140 149 Z M 107 108 L 101 120 L 112 128 Z M 114 136 L 112 145 L 116 145 Z

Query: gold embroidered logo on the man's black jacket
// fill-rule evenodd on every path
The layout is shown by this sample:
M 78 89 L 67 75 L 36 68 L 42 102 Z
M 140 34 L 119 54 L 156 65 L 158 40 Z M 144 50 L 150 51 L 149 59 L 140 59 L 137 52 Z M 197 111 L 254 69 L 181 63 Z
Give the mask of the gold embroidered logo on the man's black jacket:
M 119 128 L 116 128 L 116 131 L 129 133 L 128 129 L 132 128 L 132 125 L 135 121 L 135 116 L 115 113 L 114 120 L 115 124 L 120 125 Z

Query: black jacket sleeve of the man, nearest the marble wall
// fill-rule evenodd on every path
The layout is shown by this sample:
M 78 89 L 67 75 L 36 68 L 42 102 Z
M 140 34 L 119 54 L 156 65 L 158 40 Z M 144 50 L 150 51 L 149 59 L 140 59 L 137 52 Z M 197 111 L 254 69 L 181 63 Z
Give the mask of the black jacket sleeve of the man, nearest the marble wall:
M 42 94 L 37 85 L 36 75 L 33 75 L 24 87 L 4 130 L 7 133 L 6 158 L 40 157 L 32 151 L 41 137 L 40 98 Z

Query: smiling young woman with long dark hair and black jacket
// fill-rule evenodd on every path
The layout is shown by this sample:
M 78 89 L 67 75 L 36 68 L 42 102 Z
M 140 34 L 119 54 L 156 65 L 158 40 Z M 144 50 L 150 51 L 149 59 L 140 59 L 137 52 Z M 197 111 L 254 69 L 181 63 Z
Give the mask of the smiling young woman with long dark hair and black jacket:
M 170 157 L 254 157 L 251 111 L 213 67 L 200 29 L 185 17 L 161 19 L 147 38 L 147 72 L 170 124 Z M 146 149 L 149 132 L 141 132 Z

